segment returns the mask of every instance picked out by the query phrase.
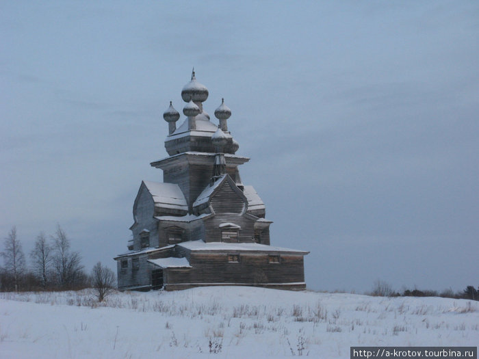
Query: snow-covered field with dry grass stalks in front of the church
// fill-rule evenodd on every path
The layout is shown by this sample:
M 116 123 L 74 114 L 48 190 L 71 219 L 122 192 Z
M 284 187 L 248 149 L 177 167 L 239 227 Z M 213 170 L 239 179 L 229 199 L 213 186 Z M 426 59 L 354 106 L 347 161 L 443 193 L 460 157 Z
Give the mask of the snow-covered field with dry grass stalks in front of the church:
M 349 358 L 350 346 L 476 346 L 479 303 L 252 287 L 0 293 L 0 358 Z

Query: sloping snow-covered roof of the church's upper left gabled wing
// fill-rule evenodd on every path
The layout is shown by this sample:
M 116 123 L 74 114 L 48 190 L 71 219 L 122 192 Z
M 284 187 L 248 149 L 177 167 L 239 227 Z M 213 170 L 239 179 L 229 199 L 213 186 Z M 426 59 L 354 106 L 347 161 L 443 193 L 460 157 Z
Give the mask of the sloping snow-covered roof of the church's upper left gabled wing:
M 176 183 L 160 183 L 153 181 L 143 181 L 143 183 L 151 196 L 153 196 L 155 206 L 169 209 L 181 209 L 183 211 L 188 210 L 185 196 Z

